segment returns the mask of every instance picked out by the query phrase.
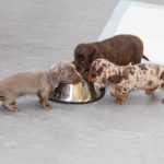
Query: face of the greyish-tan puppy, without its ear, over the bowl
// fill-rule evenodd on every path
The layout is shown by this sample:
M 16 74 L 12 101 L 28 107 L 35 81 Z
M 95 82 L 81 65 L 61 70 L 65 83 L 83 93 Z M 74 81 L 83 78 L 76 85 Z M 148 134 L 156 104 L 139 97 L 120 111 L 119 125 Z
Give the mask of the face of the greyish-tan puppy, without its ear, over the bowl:
M 82 75 L 75 70 L 74 65 L 72 65 L 71 62 L 63 61 L 59 66 L 61 70 L 61 83 L 78 83 L 83 81 Z

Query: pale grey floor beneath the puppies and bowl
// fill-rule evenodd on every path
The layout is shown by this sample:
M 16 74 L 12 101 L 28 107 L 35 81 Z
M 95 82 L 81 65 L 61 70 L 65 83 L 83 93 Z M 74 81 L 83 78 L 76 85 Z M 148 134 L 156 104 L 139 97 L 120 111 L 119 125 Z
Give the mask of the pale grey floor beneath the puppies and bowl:
M 72 60 L 78 43 L 96 40 L 117 0 L 0 0 L 0 77 Z M 155 1 L 162 3 L 162 1 Z M 19 99 L 0 107 L 0 164 L 163 164 L 164 93 L 108 95 L 85 105 Z

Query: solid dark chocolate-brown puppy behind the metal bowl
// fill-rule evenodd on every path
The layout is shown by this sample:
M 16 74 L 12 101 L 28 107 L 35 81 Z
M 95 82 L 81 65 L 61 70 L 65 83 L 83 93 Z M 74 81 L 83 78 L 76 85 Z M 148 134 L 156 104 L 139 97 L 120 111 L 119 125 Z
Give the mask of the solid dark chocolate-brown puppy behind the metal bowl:
M 74 49 L 74 61 L 78 71 L 86 78 L 92 61 L 105 58 L 108 61 L 127 66 L 140 63 L 143 55 L 142 40 L 134 35 L 116 35 L 103 42 L 80 44 Z

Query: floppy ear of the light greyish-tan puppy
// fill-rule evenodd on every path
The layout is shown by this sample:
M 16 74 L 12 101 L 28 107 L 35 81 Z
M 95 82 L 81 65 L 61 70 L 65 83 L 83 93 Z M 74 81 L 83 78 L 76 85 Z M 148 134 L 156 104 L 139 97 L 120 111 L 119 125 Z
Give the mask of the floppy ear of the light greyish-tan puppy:
M 56 89 L 59 85 L 61 73 L 62 71 L 60 65 L 54 66 L 49 70 L 49 75 L 48 75 L 49 83 L 54 89 Z

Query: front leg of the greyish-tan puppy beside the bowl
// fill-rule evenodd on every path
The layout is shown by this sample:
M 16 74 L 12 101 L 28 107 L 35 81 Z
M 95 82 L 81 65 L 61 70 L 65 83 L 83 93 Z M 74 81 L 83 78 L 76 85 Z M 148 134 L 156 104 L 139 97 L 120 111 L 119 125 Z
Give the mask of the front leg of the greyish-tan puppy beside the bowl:
M 40 104 L 43 105 L 44 108 L 51 109 L 52 105 L 48 103 L 48 97 L 49 97 L 49 91 L 40 92 Z

